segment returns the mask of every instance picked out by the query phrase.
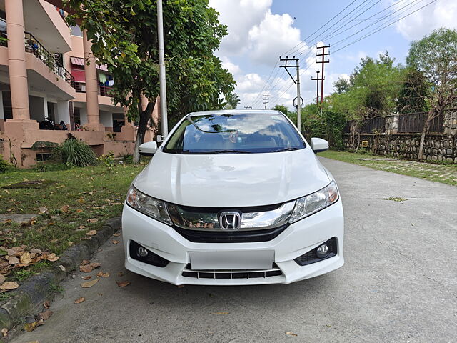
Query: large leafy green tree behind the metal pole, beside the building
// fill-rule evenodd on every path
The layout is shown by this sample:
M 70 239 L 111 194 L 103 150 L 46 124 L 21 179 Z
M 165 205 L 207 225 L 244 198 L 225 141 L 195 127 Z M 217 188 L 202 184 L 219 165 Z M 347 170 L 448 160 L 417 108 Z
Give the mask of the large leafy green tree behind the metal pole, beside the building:
M 138 146 L 144 141 L 154 101 L 159 95 L 156 1 L 65 0 L 67 21 L 87 30 L 97 63 L 106 64 L 115 80 L 113 101 L 139 117 Z M 218 13 L 206 0 L 164 2 L 164 41 L 169 121 L 190 111 L 223 109 L 233 92 L 233 76 L 214 56 L 226 36 Z M 141 94 L 149 99 L 141 109 Z

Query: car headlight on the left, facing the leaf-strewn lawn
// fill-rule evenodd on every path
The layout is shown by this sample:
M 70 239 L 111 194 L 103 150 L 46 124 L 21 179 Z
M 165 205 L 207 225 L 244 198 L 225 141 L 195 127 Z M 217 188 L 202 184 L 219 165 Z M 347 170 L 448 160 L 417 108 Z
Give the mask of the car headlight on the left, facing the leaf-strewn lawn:
M 146 216 L 157 219 L 159 222 L 164 222 L 165 224 L 172 224 L 164 202 L 141 193 L 133 186 L 130 186 L 126 202 L 142 214 L 146 214 Z

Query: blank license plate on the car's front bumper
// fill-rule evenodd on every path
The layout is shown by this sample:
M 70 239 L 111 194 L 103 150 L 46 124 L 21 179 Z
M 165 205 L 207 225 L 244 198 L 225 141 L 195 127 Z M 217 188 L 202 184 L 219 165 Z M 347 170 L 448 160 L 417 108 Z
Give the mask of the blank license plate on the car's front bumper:
M 274 250 L 247 252 L 189 252 L 194 270 L 213 269 L 271 269 Z

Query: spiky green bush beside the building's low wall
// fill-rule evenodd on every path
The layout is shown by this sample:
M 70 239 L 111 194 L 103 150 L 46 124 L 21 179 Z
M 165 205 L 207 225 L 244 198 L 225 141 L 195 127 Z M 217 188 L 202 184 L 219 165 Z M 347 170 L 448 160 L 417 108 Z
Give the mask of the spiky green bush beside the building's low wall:
M 66 139 L 53 151 L 54 158 L 67 166 L 94 166 L 97 157 L 89 145 L 78 139 Z

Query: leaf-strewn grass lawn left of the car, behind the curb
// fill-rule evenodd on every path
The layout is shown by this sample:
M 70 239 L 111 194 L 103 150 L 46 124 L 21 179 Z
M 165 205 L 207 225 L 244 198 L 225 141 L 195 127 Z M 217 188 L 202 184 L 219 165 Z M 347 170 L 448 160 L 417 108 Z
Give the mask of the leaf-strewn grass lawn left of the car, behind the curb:
M 144 165 L 90 166 L 58 171 L 14 170 L 0 174 L 0 214 L 36 214 L 29 223 L 0 221 L 0 254 L 6 249 L 41 249 L 57 256 L 77 244 L 86 232 L 121 214 L 127 188 Z M 31 188 L 19 182 L 38 181 Z M 7 263 L 7 262 L 6 262 Z M 22 263 L 22 262 L 21 262 Z M 15 267 L 8 280 L 21 281 L 52 262 Z M 1 267 L 1 266 L 0 266 Z

